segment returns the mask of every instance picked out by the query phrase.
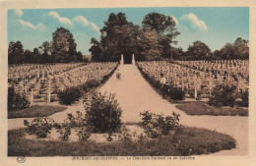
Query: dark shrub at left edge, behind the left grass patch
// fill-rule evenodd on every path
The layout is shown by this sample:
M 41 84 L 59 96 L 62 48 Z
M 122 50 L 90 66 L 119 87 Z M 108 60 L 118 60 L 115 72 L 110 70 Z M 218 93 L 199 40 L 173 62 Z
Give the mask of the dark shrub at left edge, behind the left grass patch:
M 16 93 L 14 87 L 8 87 L 8 111 L 21 110 L 30 107 L 29 100 L 20 93 Z

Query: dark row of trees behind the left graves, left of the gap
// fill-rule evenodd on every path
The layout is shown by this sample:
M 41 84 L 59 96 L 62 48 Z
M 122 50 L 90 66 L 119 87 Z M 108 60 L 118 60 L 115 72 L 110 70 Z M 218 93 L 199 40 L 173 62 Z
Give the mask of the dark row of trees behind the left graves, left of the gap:
M 72 33 L 66 28 L 57 28 L 52 33 L 52 41 L 44 41 L 32 51 L 24 51 L 21 41 L 11 41 L 8 48 L 8 64 L 81 62 L 83 55 L 76 47 Z

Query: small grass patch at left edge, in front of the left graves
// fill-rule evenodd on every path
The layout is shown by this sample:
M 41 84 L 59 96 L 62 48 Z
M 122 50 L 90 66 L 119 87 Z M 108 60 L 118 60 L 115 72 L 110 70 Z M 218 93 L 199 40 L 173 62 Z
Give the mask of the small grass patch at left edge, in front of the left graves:
M 24 110 L 9 111 L 8 119 L 13 118 L 33 118 L 33 117 L 46 117 L 56 112 L 66 110 L 67 107 L 50 106 L 50 105 L 32 105 Z

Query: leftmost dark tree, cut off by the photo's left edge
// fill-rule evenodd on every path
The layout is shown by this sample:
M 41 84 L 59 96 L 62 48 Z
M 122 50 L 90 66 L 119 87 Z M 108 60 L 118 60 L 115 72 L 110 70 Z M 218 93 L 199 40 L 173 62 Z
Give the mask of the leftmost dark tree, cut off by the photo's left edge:
M 8 64 L 24 63 L 24 48 L 21 41 L 9 43 L 8 48 Z

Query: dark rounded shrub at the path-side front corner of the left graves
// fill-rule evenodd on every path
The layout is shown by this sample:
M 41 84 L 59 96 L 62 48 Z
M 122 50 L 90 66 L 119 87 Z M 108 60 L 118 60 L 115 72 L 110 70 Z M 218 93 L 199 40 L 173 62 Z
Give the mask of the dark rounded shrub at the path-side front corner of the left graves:
M 67 87 L 63 91 L 58 92 L 60 103 L 71 105 L 82 96 L 81 90 L 78 87 Z

